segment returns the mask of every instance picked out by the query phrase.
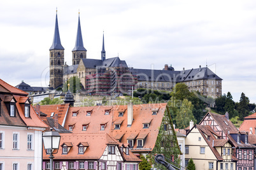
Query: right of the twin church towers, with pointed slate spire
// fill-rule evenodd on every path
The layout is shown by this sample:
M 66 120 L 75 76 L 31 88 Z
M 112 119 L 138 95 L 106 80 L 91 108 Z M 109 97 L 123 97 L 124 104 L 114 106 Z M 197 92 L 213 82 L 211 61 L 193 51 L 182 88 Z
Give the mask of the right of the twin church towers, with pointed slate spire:
M 81 58 L 86 58 L 87 50 L 83 47 L 83 38 L 80 25 L 80 13 L 78 13 L 78 28 L 75 48 L 72 50 L 72 65 L 79 64 Z

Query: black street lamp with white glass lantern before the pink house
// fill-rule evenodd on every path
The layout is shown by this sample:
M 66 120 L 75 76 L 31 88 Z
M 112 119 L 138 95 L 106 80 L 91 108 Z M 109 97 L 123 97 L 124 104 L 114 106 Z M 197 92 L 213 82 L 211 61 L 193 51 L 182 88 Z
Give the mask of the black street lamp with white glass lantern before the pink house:
M 46 131 L 43 133 L 43 145 L 45 146 L 46 154 L 50 154 L 50 170 L 53 170 L 53 154 L 57 154 L 60 144 L 60 134 L 57 131 Z M 53 153 L 53 150 L 57 152 Z

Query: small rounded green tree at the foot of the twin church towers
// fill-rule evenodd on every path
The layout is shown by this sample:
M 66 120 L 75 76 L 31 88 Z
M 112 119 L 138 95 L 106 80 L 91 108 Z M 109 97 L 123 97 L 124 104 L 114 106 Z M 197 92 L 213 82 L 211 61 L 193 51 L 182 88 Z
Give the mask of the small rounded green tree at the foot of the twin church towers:
M 76 91 L 80 91 L 82 89 L 80 79 L 77 76 L 70 77 L 70 79 L 64 83 L 64 93 L 68 91 L 68 84 L 70 85 L 69 90 L 71 91 L 71 93 L 76 93 Z

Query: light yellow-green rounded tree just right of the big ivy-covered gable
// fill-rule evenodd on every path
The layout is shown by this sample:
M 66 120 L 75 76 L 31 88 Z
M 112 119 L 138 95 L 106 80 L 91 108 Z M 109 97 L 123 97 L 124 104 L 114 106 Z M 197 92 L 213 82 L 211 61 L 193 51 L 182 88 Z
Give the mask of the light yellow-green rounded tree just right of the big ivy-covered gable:
M 192 112 L 193 108 L 194 106 L 192 105 L 191 101 L 188 101 L 187 99 L 184 99 L 182 101 L 180 110 L 176 115 L 177 128 L 180 128 L 180 129 L 187 128 L 191 120 L 194 121 L 194 123 L 196 124 L 197 121 Z

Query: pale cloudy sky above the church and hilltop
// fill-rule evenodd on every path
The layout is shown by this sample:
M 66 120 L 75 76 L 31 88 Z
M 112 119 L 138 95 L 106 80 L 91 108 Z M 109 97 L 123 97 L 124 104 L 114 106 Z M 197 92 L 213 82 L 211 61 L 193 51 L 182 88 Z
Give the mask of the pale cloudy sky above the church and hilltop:
M 101 58 L 104 30 L 106 58 L 136 69 L 208 65 L 223 79 L 222 94 L 256 103 L 256 1 L 0 1 L 0 79 L 49 84 L 56 8 L 68 65 L 80 11 L 87 58 Z

